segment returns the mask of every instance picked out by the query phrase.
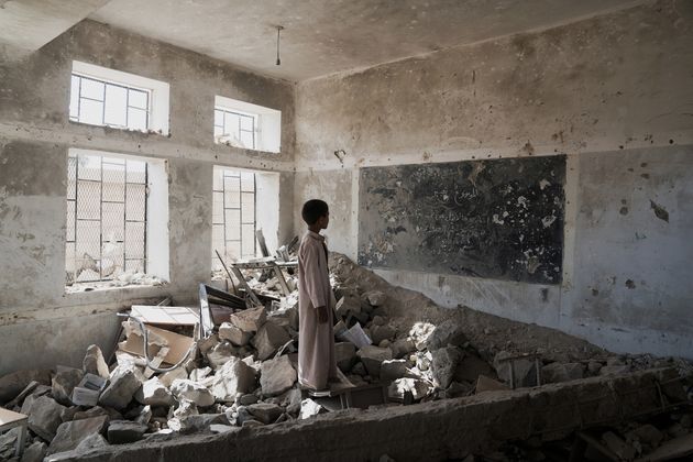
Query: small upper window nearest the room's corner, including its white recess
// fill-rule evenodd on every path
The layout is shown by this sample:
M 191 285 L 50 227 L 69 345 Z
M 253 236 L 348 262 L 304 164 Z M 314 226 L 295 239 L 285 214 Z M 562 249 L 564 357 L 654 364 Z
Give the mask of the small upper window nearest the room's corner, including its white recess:
M 216 97 L 216 143 L 278 153 L 280 139 L 280 111 L 221 96 Z

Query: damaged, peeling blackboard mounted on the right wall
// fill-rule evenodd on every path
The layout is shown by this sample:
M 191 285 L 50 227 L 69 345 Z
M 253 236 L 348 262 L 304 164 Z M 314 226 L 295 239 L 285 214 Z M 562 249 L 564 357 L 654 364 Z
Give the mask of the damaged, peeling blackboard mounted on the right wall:
M 559 284 L 564 184 L 564 155 L 362 168 L 359 263 Z

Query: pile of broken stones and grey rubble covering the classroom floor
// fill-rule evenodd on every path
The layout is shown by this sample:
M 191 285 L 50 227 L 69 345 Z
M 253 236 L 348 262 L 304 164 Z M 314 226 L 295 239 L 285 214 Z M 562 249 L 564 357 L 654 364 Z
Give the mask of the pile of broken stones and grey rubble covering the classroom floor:
M 343 255 L 331 255 L 330 268 L 338 300 L 338 367 L 354 388 L 386 387 L 385 406 L 654 366 L 675 365 L 682 374 L 693 371 L 682 360 L 615 355 L 552 329 L 464 307 L 443 309 L 421 294 L 391 286 Z M 1 377 L 0 404 L 29 416 L 22 460 L 176 435 L 235 431 L 327 413 L 297 383 L 296 275 L 286 276 L 292 290 L 286 295 L 270 272 L 243 274 L 265 305 L 230 309 L 227 320 L 201 340 L 187 337 L 186 328 L 176 332 L 147 328 L 147 361 L 142 326 L 130 319 L 123 322 L 127 338 L 110 366 L 91 345 L 81 369 L 58 366 Z M 667 439 L 689 435 L 692 416 L 624 424 L 595 438 L 628 457 L 645 454 Z M 12 455 L 16 437 L 14 431 L 0 436 L 0 459 Z M 497 460 L 544 460 L 543 449 L 531 441 L 507 446 L 505 459 Z M 521 457 L 513 459 L 514 454 Z

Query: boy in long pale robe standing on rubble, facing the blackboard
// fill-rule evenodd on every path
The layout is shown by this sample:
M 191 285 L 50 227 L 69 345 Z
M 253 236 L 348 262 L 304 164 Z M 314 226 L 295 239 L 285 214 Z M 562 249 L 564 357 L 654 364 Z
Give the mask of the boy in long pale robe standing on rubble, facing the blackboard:
M 328 250 L 321 230 L 330 222 L 328 205 L 319 199 L 304 204 L 308 231 L 298 249 L 298 382 L 312 389 L 327 388 L 337 377 Z

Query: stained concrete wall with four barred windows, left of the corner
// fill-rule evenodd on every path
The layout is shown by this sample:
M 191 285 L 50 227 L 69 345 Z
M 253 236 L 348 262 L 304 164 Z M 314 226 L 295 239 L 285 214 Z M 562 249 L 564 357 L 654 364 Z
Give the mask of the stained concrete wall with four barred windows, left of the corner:
M 170 135 L 68 121 L 73 59 L 170 85 Z M 282 111 L 282 152 L 213 144 L 215 96 Z M 173 296 L 193 302 L 209 279 L 212 166 L 278 172 L 279 235 L 290 235 L 294 84 L 84 21 L 40 51 L 0 56 L 0 375 L 80 364 L 88 344 L 110 350 L 114 311 Z M 163 158 L 168 170 L 170 284 L 65 294 L 67 152 L 70 147 Z

